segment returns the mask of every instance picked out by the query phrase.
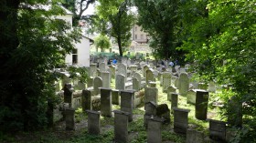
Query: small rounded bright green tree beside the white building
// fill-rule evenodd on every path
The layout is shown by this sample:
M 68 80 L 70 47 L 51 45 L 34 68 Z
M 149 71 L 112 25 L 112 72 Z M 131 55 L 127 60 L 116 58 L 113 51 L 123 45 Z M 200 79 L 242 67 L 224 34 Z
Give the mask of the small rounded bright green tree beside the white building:
M 110 38 L 105 35 L 99 35 L 94 38 L 94 44 L 96 48 L 100 47 L 101 52 L 104 51 L 104 49 L 108 49 L 111 47 Z

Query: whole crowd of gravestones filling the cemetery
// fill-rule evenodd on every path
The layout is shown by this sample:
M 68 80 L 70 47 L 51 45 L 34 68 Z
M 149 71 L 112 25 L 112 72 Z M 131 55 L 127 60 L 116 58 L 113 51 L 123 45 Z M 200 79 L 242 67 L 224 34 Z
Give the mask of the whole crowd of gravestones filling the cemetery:
M 101 130 L 100 116 L 112 117 L 113 112 L 115 140 L 127 142 L 128 122 L 133 121 L 133 107 L 144 100 L 144 127 L 147 128 L 148 142 L 161 142 L 161 126 L 170 123 L 171 114 L 174 116 L 176 133 L 187 134 L 187 142 L 195 142 L 195 140 L 203 142 L 202 133 L 188 128 L 189 110 L 178 108 L 178 97 L 183 96 L 187 97 L 187 104 L 195 105 L 197 119 L 209 121 L 209 137 L 226 140 L 226 122 L 207 118 L 208 93 L 216 91 L 213 82 L 209 84 L 190 82 L 192 76 L 186 72 L 188 66 L 169 67 L 163 71 L 156 68 L 157 62 L 154 61 L 132 62 L 123 58 L 119 62 L 118 65 L 108 66 L 106 60 L 102 59 L 98 64 L 91 64 L 86 88 L 85 85 L 71 85 L 70 79 L 63 79 L 62 85 L 66 82 L 63 86 L 64 102 L 69 104 L 69 107 L 65 107 L 67 129 L 74 129 L 76 107 L 81 106 L 82 110 L 88 113 L 89 133 L 97 135 Z M 113 89 L 112 78 L 115 80 Z M 166 104 L 157 104 L 156 80 L 160 81 L 162 91 L 167 94 L 167 100 L 171 102 L 171 110 Z M 80 87 L 80 90 L 74 90 L 73 87 Z M 134 96 L 142 89 L 144 89 L 144 97 Z M 121 109 L 112 111 L 112 104 L 120 105 Z M 235 106 L 233 102 L 230 105 Z

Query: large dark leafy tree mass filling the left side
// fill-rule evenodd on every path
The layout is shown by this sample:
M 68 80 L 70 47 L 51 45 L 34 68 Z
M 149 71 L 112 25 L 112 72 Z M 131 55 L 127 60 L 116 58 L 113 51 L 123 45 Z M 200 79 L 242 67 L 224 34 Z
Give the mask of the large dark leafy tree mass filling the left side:
M 46 11 L 39 5 L 51 6 Z M 47 124 L 48 101 L 58 101 L 51 70 L 64 65 L 64 56 L 72 50 L 73 42 L 79 41 L 80 30 L 71 30 L 63 20 L 52 18 L 64 14 L 58 1 L 29 1 L 19 8 L 15 4 L 5 6 L 14 9 L 0 20 L 6 18 L 16 24 L 1 23 L 1 29 L 5 26 L 16 31 L 5 38 L 5 43 L 17 37 L 18 45 L 1 47 L 6 51 L 5 58 L 2 53 L 0 56 L 1 130 L 43 128 Z M 18 13 L 17 18 L 10 16 L 13 13 Z M 2 34 L 8 35 L 8 29 Z

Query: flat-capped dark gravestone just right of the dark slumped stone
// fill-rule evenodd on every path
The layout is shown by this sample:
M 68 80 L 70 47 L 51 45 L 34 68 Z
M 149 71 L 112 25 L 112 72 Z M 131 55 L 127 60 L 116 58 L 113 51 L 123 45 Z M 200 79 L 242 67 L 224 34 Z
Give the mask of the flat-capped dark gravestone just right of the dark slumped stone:
M 188 109 L 174 107 L 174 131 L 186 134 L 188 127 Z

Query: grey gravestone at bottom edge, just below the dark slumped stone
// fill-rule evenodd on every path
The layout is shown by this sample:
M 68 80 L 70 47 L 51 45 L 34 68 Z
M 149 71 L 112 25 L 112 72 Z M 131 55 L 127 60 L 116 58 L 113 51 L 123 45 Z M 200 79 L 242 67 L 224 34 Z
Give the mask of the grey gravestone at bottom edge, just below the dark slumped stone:
M 160 143 L 162 142 L 161 128 L 164 122 L 163 118 L 150 117 L 147 123 L 147 143 Z

